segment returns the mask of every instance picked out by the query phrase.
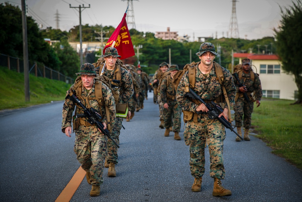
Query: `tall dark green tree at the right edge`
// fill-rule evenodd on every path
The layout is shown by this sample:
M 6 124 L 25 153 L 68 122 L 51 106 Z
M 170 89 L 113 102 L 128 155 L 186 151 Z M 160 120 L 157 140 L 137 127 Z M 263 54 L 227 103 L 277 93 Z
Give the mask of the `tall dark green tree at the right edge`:
M 281 25 L 274 29 L 277 52 L 282 62 L 282 69 L 293 74 L 298 87 L 298 101 L 302 103 L 302 2 L 289 8 L 281 9 Z

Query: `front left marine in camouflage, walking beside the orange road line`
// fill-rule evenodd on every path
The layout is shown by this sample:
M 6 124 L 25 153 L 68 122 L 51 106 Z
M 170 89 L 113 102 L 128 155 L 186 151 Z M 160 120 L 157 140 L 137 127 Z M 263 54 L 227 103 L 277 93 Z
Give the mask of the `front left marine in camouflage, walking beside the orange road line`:
M 114 124 L 115 102 L 111 90 L 105 84 L 102 84 L 101 91 L 104 98 L 104 104 L 98 104 L 97 99 L 95 99 L 94 77 L 96 76 L 96 73 L 94 66 L 90 63 L 83 64 L 77 75 L 81 75 L 82 80 L 82 92 L 79 92 L 81 94 L 76 95 L 79 100 L 86 108 L 94 108 L 101 114 L 101 123 L 104 124 L 107 124 L 109 121 L 107 120 L 105 110 L 105 106 L 107 106 L 111 123 Z M 84 77 L 87 75 L 92 78 L 92 87 L 89 87 L 90 89 L 83 83 L 85 81 Z M 74 85 L 75 84 L 72 84 L 70 89 L 72 89 Z M 66 96 L 69 95 L 70 89 L 67 91 Z M 92 184 L 90 195 L 98 196 L 100 194 L 100 184 L 103 183 L 104 158 L 107 153 L 107 136 L 102 134 L 95 125 L 89 124 L 85 118 L 76 118 L 76 116 L 74 116 L 72 119 L 72 113 L 75 106 L 75 102 L 71 101 L 69 98 L 65 99 L 62 112 L 62 132 L 66 133 L 66 136 L 71 137 L 69 134 L 71 133 L 71 121 L 73 120 L 73 131 L 76 133 L 74 152 L 76 153 L 77 160 L 81 164 L 81 167 L 86 171 L 88 183 Z M 76 114 L 83 113 L 84 110 L 82 108 L 76 107 Z

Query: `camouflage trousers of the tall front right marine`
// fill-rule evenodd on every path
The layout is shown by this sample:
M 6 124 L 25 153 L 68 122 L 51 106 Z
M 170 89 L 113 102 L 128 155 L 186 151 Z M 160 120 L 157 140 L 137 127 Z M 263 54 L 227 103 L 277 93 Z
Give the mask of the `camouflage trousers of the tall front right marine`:
M 210 177 L 224 179 L 223 140 L 226 132 L 223 124 L 210 118 L 199 120 L 198 123 L 191 120 L 186 125 L 184 136 L 189 138 L 191 175 L 195 178 L 204 175 L 204 147 L 207 142 L 210 152 Z

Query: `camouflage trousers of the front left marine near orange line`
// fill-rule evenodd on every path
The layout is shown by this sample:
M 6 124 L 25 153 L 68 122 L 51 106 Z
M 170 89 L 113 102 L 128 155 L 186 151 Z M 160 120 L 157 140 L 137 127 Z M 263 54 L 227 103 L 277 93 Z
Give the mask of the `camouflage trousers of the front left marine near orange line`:
M 95 126 L 91 126 L 95 127 Z M 91 183 L 103 184 L 104 158 L 107 150 L 107 137 L 101 133 L 83 136 L 76 133 L 74 152 L 86 172 L 90 172 Z

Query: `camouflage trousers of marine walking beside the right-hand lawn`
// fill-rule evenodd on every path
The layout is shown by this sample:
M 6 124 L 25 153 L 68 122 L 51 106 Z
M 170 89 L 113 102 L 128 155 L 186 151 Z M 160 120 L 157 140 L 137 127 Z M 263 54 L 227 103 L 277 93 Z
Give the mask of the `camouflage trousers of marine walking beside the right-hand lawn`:
M 252 109 L 249 107 L 251 106 Z M 253 102 L 247 102 L 246 100 L 238 99 L 234 105 L 235 111 L 235 124 L 237 127 L 242 126 L 242 117 L 243 117 L 243 127 L 249 129 L 252 122 L 252 112 L 254 109 Z

